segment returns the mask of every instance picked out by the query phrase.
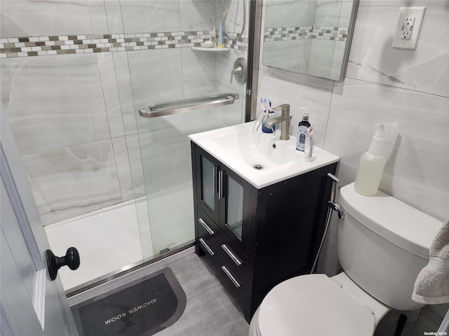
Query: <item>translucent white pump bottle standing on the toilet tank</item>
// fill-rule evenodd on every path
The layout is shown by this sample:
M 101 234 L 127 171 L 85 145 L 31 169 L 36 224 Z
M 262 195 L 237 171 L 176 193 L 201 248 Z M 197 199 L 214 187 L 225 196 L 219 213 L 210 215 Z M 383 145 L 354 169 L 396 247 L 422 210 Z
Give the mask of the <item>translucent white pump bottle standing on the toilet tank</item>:
M 383 152 L 384 138 L 384 125 L 379 124 L 368 152 L 363 153 L 360 158 L 354 189 L 361 195 L 372 196 L 379 189 L 387 162 Z

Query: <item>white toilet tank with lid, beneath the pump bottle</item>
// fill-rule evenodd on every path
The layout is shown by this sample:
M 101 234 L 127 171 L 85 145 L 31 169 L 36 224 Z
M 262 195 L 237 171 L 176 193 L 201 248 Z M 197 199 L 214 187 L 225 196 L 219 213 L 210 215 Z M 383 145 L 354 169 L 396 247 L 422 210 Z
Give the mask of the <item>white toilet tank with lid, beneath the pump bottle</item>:
M 341 188 L 340 204 L 337 250 L 344 272 L 391 308 L 422 307 L 411 298 L 413 286 L 443 223 L 380 191 L 360 195 L 354 183 Z

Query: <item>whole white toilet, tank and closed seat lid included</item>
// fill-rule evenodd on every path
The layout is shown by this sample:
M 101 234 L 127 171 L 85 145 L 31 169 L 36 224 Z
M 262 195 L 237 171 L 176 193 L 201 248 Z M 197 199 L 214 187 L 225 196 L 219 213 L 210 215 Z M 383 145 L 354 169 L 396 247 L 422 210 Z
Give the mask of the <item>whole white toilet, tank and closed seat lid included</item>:
M 411 297 L 442 223 L 385 193 L 340 189 L 344 219 L 337 251 L 343 272 L 295 276 L 269 291 L 250 336 L 373 335 L 390 309 L 414 310 Z

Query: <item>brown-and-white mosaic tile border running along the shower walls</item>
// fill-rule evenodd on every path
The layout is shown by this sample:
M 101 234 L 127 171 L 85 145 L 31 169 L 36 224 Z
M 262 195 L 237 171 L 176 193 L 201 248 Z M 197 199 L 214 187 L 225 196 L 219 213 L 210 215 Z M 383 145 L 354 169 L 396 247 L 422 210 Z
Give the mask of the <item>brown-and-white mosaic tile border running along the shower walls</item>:
M 199 47 L 212 31 L 169 31 L 135 34 L 87 34 L 0 38 L 0 57 L 29 57 L 133 50 Z M 225 47 L 248 49 L 248 34 L 237 41 L 225 39 Z

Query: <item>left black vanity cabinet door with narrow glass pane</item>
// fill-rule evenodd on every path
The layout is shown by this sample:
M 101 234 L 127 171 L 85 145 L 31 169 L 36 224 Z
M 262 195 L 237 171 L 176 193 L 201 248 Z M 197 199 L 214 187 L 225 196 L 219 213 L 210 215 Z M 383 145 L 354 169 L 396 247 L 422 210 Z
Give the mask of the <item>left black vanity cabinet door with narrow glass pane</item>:
M 206 151 L 196 147 L 196 198 L 198 206 L 215 223 L 220 221 L 218 175 L 220 162 Z

